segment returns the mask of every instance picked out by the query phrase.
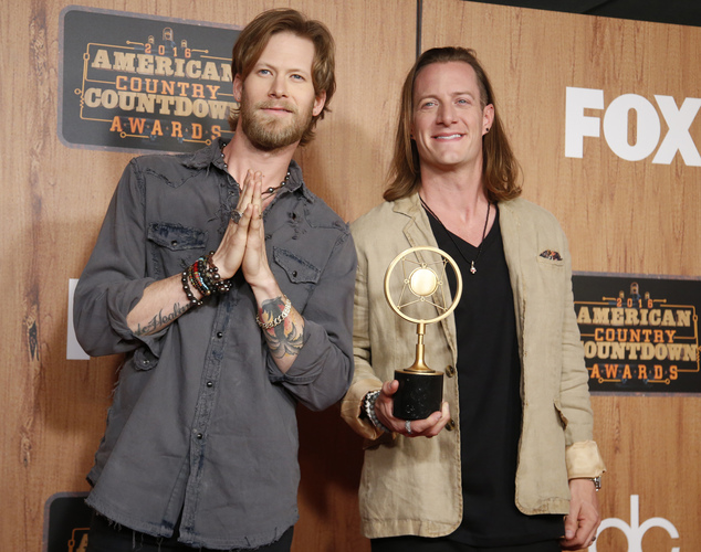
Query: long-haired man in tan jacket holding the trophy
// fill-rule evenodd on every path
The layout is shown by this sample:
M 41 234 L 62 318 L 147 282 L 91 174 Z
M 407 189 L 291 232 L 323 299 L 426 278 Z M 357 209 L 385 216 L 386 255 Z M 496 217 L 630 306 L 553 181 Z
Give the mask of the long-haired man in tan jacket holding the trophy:
M 425 52 L 404 85 L 386 202 L 352 225 L 356 369 L 342 410 L 368 439 L 359 492 L 374 552 L 548 552 L 596 538 L 605 467 L 569 251 L 554 216 L 519 198 L 517 172 L 474 52 Z M 419 245 L 454 258 L 464 285 L 454 312 L 426 327 L 444 403 L 407 422 L 393 415 L 393 374 L 412 359 L 416 326 L 383 283 Z

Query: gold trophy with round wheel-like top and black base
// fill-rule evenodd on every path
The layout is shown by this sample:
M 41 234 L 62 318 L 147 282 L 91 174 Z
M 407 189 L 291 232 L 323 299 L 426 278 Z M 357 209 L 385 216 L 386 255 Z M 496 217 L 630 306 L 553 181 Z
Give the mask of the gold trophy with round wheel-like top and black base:
M 401 273 L 395 270 L 398 265 L 401 265 Z M 447 265 L 452 268 L 457 282 L 452 301 L 446 275 Z M 393 290 L 395 295 L 399 294 L 397 300 L 391 296 Z M 458 265 L 450 255 L 436 247 L 406 250 L 387 267 L 387 302 L 401 318 L 417 325 L 418 336 L 414 364 L 404 370 L 395 370 L 395 380 L 399 382 L 399 389 L 394 396 L 396 417 L 423 420 L 440 410 L 443 400 L 443 373 L 426 365 L 423 335 L 427 323 L 438 322 L 454 310 L 461 295 L 462 277 Z

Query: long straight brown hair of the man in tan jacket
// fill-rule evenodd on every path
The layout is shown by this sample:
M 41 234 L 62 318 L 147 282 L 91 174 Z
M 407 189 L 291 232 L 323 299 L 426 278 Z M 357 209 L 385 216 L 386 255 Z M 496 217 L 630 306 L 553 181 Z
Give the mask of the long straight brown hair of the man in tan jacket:
M 464 47 L 435 47 L 423 52 L 409 71 L 401 88 L 399 124 L 395 140 L 395 152 L 389 168 L 388 187 L 384 198 L 395 201 L 411 195 L 421 183 L 419 152 L 411 139 L 414 120 L 414 84 L 419 72 L 433 63 L 463 62 L 477 74 L 482 109 L 494 106 L 494 121 L 482 137 L 482 181 L 490 201 L 504 201 L 519 197 L 521 169 L 513 155 L 509 137 L 496 109 L 494 92 L 473 50 Z

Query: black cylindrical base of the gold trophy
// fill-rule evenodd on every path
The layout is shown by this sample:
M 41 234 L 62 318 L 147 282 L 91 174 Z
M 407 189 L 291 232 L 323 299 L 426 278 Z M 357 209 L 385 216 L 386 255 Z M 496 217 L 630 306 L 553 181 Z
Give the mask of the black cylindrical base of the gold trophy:
M 440 410 L 443 401 L 443 374 L 395 370 L 399 389 L 395 393 L 394 415 L 399 420 L 423 420 Z

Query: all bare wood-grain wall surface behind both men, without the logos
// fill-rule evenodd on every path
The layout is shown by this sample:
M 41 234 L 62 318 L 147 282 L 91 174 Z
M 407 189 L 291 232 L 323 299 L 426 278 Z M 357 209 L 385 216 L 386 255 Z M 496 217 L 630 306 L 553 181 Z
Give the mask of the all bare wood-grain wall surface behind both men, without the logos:
M 0 317 L 0 534 L 2 546 L 40 550 L 43 507 L 84 476 L 104 429 L 117 358 L 65 360 L 67 282 L 80 275 L 130 153 L 67 148 L 57 139 L 59 15 L 67 0 L 0 6 L 0 225 L 4 316 Z M 311 187 L 346 220 L 380 201 L 399 87 L 415 55 L 415 0 L 215 2 L 86 0 L 81 6 L 245 24 L 292 6 L 328 24 L 337 41 L 338 92 L 317 139 L 297 158 Z M 701 168 L 624 161 L 604 138 L 584 159 L 564 157 L 565 87 L 678 105 L 698 97 L 701 30 L 423 0 L 423 47 L 477 49 L 490 73 L 525 173 L 525 197 L 550 209 L 571 240 L 578 270 L 701 274 Z M 603 116 L 603 113 L 598 115 Z M 691 127 L 701 145 L 698 121 Z M 634 130 L 631 130 L 632 132 Z M 666 126 L 662 123 L 662 136 Z M 649 531 L 644 550 L 701 550 L 699 397 L 594 399 L 596 438 L 609 474 L 604 517 L 670 520 L 672 541 Z M 358 533 L 359 439 L 334 408 L 301 412 L 299 552 L 369 550 Z M 603 533 L 598 550 L 628 550 Z M 632 549 L 631 549 L 632 550 Z

